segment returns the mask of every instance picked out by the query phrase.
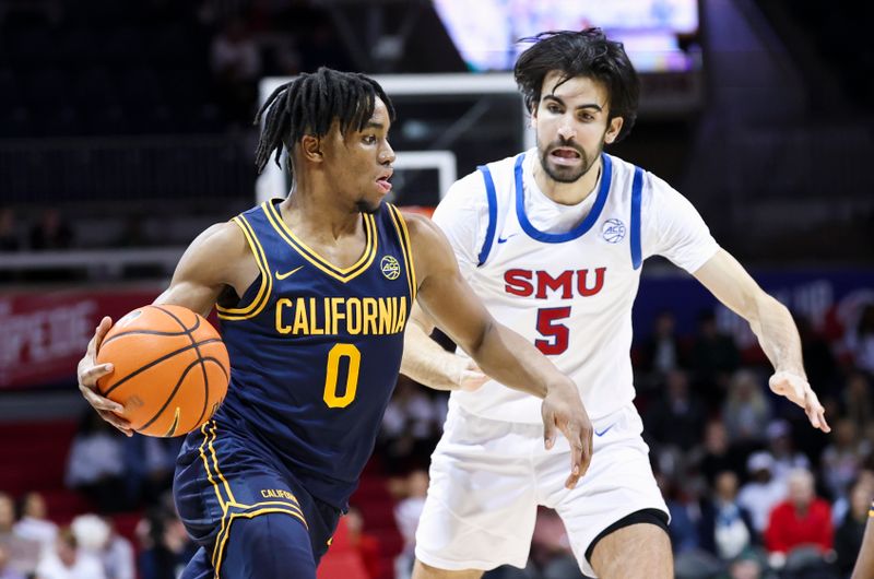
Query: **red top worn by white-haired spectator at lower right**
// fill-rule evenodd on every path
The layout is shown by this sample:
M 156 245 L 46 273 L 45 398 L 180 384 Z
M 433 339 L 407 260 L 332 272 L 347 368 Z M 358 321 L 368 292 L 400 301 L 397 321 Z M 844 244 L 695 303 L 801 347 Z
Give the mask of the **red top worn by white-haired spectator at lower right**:
M 765 530 L 765 545 L 770 552 L 788 553 L 799 545 L 816 545 L 822 551 L 832 546 L 831 507 L 815 498 L 807 512 L 800 515 L 792 503 L 784 500 L 771 511 Z

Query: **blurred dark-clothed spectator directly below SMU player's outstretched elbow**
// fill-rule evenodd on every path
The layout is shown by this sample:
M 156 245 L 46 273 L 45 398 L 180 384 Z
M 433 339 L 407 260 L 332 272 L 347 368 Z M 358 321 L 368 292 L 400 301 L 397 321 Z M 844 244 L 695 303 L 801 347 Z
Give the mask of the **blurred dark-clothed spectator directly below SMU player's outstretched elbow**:
M 729 379 L 740 365 L 740 354 L 734 339 L 717 329 L 717 318 L 712 310 L 705 310 L 698 317 L 698 333 L 692 345 L 692 369 L 695 383 L 707 398 L 710 407 L 721 399 Z

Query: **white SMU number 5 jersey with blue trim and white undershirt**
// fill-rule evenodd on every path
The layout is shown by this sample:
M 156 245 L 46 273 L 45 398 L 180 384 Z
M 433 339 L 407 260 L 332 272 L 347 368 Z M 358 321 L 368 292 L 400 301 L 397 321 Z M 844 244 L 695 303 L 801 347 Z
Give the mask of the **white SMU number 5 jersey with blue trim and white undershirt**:
M 631 306 L 642 261 L 694 272 L 719 249 L 698 212 L 666 182 L 602 155 L 595 190 L 562 205 L 538 187 L 536 150 L 457 181 L 434 213 L 462 274 L 501 323 L 574 379 L 592 421 L 634 399 Z M 541 401 L 495 381 L 452 392 L 486 418 L 540 423 Z

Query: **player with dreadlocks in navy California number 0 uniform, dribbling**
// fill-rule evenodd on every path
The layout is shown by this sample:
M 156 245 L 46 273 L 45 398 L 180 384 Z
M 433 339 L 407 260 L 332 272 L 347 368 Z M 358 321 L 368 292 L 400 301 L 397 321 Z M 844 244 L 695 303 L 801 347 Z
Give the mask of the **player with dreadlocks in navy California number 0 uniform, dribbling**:
M 572 486 L 591 448 L 576 386 L 488 315 L 429 220 L 383 202 L 394 152 L 382 88 L 320 69 L 277 88 L 264 114 L 257 165 L 284 147 L 291 194 L 203 232 L 156 300 L 216 307 L 232 366 L 224 404 L 177 460 L 176 506 L 201 545 L 182 577 L 316 577 L 373 450 L 414 299 L 485 371 L 543 399 L 546 446 L 562 430 L 574 448 Z M 111 371 L 95 361 L 110 326 L 80 363 L 80 389 L 129 434 L 123 409 L 94 391 Z

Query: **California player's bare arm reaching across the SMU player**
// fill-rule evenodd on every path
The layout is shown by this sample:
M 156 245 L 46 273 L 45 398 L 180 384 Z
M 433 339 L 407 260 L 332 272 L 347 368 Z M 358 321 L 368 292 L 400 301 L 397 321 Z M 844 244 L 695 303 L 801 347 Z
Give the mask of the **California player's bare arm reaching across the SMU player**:
M 592 425 L 576 385 L 530 342 L 488 314 L 461 276 L 452 249 L 435 224 L 417 215 L 406 216 L 406 222 L 423 311 L 485 374 L 543 399 L 544 441 L 552 448 L 556 429 L 570 441 L 571 474 L 566 486 L 572 487 L 592 456 Z

